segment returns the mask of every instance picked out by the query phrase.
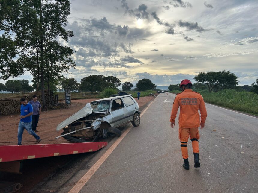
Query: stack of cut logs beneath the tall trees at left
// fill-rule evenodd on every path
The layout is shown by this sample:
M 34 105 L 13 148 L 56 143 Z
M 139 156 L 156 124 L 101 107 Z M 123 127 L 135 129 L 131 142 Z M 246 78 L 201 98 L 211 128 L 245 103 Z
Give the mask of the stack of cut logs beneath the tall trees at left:
M 33 100 L 33 95 L 38 96 L 38 101 L 43 104 L 42 98 L 41 98 L 41 91 L 36 92 L 30 92 L 27 94 L 21 94 L 20 96 L 15 97 L 9 97 L 9 98 L 2 98 L 0 99 L 0 115 L 8 115 L 12 113 L 19 113 L 21 108 L 20 99 L 24 97 L 27 102 Z M 45 103 L 46 108 L 51 109 L 52 103 L 53 103 L 53 97 L 52 95 L 47 93 L 47 90 L 45 90 Z

